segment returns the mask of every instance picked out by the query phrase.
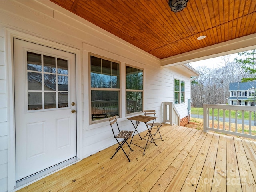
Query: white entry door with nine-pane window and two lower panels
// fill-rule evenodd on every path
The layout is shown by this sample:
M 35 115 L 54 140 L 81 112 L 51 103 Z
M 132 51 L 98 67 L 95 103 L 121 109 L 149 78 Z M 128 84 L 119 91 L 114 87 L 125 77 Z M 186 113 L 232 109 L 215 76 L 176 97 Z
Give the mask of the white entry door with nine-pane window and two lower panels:
M 16 181 L 76 157 L 75 54 L 14 39 Z

